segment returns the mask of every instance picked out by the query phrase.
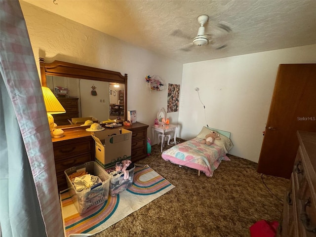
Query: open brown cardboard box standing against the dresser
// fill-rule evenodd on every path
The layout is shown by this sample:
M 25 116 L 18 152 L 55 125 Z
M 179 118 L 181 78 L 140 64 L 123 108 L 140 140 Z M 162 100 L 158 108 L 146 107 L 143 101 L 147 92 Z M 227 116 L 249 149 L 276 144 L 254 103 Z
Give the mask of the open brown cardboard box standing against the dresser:
M 103 168 L 131 158 L 131 131 L 124 128 L 106 129 L 94 132 L 91 136 L 95 141 L 95 159 Z

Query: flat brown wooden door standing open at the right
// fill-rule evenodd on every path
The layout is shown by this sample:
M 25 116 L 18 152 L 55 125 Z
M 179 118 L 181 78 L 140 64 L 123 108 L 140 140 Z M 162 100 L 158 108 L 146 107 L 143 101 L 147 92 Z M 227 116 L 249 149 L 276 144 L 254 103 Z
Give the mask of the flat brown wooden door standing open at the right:
M 316 64 L 280 64 L 262 142 L 258 173 L 289 179 L 296 131 L 316 132 Z

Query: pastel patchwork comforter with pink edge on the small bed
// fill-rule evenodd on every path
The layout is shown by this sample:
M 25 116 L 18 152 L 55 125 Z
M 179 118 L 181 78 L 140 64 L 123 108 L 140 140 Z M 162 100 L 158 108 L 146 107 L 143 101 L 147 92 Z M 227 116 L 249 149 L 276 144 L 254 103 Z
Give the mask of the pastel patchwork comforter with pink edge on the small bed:
M 161 157 L 175 164 L 200 170 L 211 177 L 222 160 L 230 160 L 223 147 L 201 144 L 202 139 L 193 138 L 163 151 Z

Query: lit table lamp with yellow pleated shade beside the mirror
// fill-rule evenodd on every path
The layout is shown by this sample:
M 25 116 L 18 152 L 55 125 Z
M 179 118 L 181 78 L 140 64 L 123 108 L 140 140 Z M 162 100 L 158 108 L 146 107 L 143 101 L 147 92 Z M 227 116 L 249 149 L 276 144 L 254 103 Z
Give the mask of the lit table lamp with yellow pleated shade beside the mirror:
M 41 90 L 43 92 L 50 134 L 53 136 L 54 118 L 52 115 L 66 113 L 66 110 L 48 87 L 42 86 Z

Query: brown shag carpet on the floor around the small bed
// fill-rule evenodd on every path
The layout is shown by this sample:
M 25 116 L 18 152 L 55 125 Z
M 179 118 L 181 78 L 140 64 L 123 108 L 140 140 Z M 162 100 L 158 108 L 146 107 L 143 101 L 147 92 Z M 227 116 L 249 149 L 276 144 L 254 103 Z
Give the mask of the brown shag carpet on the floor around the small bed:
M 137 163 L 149 164 L 175 188 L 93 237 L 249 237 L 256 221 L 279 220 L 289 180 L 263 175 L 272 194 L 257 163 L 229 157 L 213 177 L 198 177 L 163 160 L 154 145 Z

